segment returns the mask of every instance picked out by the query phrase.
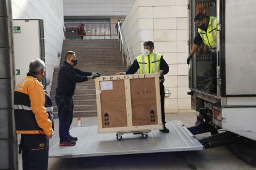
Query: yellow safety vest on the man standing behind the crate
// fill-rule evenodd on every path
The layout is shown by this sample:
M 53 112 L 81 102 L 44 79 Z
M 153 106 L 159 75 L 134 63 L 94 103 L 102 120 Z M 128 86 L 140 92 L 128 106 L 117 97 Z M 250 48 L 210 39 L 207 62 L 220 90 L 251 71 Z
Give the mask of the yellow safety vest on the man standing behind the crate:
M 150 55 L 139 55 L 136 59 L 140 66 L 140 74 L 155 73 L 160 70 L 161 56 L 153 52 Z

